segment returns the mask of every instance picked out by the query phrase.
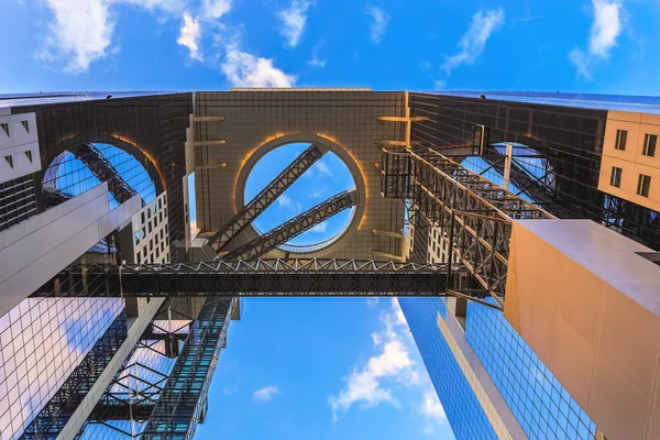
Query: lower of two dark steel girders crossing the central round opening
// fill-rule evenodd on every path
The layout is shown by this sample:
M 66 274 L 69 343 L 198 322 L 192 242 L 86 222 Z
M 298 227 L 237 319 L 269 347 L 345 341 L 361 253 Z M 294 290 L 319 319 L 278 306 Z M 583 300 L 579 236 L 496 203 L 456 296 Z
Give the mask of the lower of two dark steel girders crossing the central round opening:
M 272 229 L 265 234 L 252 240 L 249 243 L 233 250 L 223 256 L 223 260 L 255 260 L 268 251 L 286 243 L 302 232 L 310 230 L 317 224 L 331 218 L 344 209 L 352 208 L 356 202 L 358 191 L 342 191 L 307 211 L 294 217 L 287 222 Z

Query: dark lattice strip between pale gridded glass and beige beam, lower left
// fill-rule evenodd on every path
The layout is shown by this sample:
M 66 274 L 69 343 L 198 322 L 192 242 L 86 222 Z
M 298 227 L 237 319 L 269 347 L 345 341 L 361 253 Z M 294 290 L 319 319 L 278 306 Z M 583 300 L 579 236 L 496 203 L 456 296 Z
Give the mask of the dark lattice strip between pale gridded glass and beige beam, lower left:
M 82 398 L 127 339 L 127 317 L 120 314 L 73 371 L 62 387 L 25 428 L 21 439 L 55 439 Z

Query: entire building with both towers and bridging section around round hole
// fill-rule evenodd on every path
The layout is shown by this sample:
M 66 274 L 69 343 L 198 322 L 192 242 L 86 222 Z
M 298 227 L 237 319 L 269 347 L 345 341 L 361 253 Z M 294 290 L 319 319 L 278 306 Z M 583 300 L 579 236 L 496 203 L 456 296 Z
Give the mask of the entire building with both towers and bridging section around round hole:
M 389 295 L 459 439 L 660 438 L 658 103 L 0 96 L 0 437 L 193 438 L 240 297 Z M 327 156 L 351 184 L 262 231 Z

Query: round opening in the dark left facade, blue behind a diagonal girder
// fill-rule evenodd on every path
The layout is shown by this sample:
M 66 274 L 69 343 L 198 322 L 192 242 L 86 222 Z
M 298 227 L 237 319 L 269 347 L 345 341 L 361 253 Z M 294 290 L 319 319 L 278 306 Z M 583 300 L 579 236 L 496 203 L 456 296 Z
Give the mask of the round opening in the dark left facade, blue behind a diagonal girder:
M 77 154 L 65 151 L 46 168 L 43 179 L 46 191 L 56 193 L 64 200 L 100 185 L 98 172 L 94 173 L 90 166 L 106 161 L 130 188 L 140 194 L 145 204 L 156 197 L 156 187 L 148 172 L 130 153 L 103 143 L 92 143 L 89 144 L 89 148 L 73 151 Z M 99 169 L 103 168 L 102 163 L 98 163 L 97 166 Z M 109 195 L 110 208 L 114 209 L 119 202 L 111 193 Z

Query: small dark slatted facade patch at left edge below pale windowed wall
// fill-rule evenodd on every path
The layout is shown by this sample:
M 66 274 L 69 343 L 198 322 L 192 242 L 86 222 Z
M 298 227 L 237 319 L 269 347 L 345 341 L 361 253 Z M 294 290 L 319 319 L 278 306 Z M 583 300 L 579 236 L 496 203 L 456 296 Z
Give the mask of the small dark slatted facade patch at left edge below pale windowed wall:
M 31 176 L 0 184 L 0 231 L 36 215 L 36 197 Z

